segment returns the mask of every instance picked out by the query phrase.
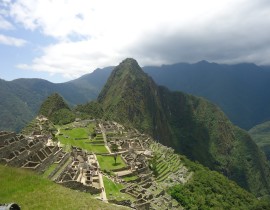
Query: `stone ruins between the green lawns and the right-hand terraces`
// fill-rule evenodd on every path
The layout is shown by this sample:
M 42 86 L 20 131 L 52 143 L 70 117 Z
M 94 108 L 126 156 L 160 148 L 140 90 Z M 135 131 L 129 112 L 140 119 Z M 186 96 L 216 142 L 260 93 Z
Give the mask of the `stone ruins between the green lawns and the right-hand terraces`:
M 108 123 L 105 126 L 103 125 L 103 128 L 106 134 L 109 133 L 109 135 L 106 135 L 108 146 L 111 147 L 113 144 L 118 146 L 119 154 L 130 171 L 130 173 L 127 173 L 126 168 L 123 169 L 124 171 L 114 171 L 117 178 L 121 180 L 125 176 L 132 175 L 138 177 L 131 182 L 122 180 L 126 187 L 121 192 L 135 198 L 131 207 L 135 209 L 181 209 L 180 204 L 164 191 L 163 186 L 160 186 L 149 169 L 149 160 L 153 158 L 152 145 L 155 144 L 154 141 L 135 129 L 119 132 L 117 126 Z M 109 128 L 109 130 L 106 128 Z M 112 129 L 115 129 L 115 131 Z M 163 148 L 162 145 L 157 147 Z M 167 149 L 165 150 L 167 151 Z M 169 155 L 171 154 L 173 154 L 173 151 L 170 151 Z M 177 177 L 179 174 L 180 172 L 176 171 L 171 173 L 171 176 Z

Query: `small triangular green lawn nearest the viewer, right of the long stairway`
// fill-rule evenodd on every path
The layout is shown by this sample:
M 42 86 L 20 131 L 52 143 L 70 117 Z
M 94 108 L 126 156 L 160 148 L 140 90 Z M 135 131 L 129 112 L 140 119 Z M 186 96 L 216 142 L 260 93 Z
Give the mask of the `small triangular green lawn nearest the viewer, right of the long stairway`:
M 134 198 L 128 194 L 120 192 L 120 190 L 124 188 L 122 184 L 114 183 L 105 176 L 103 176 L 103 182 L 108 200 L 134 200 Z

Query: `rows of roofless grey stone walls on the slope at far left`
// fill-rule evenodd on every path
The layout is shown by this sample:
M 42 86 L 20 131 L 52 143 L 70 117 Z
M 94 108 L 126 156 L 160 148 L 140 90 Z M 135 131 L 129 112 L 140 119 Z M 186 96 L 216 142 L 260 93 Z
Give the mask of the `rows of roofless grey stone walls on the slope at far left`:
M 0 162 L 42 173 L 65 153 L 58 146 L 47 146 L 47 137 L 25 137 L 13 132 L 0 132 Z

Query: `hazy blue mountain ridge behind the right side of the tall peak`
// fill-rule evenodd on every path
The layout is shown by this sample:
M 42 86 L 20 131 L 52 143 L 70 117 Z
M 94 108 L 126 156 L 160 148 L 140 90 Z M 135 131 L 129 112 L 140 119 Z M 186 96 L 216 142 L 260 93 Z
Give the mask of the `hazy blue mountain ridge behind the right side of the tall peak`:
M 270 120 L 269 67 L 201 61 L 143 69 L 159 85 L 216 103 L 234 124 L 243 129 Z

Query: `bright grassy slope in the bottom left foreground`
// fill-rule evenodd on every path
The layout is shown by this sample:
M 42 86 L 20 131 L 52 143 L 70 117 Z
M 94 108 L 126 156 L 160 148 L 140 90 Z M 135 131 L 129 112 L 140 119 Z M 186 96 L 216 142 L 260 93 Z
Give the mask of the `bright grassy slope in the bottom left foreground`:
M 62 187 L 32 171 L 0 165 L 0 180 L 0 203 L 15 202 L 21 209 L 126 209 Z

